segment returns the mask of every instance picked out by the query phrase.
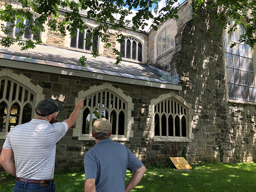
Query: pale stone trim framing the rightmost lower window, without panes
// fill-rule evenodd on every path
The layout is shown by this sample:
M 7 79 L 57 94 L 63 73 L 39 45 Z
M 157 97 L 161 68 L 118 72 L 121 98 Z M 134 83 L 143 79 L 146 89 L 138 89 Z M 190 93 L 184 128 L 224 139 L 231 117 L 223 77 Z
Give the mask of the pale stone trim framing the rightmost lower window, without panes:
M 184 105 L 188 109 L 188 114 L 187 114 L 187 136 L 186 138 L 184 137 L 172 137 L 172 136 L 155 136 L 155 105 L 158 104 L 159 102 L 166 100 L 168 98 L 174 98 L 177 100 L 180 104 Z M 183 99 L 181 96 L 176 95 L 174 92 L 170 92 L 167 94 L 160 95 L 156 99 L 152 99 L 151 103 L 149 105 L 149 113 L 151 114 L 151 118 L 149 120 L 149 124 L 151 127 L 150 131 L 150 138 L 153 138 L 154 141 L 171 141 L 171 142 L 191 142 L 191 139 L 194 139 L 194 134 L 192 133 L 192 115 L 193 110 L 191 109 L 191 104 L 186 102 L 185 99 Z

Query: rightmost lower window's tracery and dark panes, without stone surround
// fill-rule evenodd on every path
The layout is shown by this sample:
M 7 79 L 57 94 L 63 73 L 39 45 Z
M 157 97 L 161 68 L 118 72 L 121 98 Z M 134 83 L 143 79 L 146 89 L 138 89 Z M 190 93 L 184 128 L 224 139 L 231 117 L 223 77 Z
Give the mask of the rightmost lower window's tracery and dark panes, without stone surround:
M 165 99 L 155 105 L 155 136 L 188 137 L 187 109 L 173 98 Z

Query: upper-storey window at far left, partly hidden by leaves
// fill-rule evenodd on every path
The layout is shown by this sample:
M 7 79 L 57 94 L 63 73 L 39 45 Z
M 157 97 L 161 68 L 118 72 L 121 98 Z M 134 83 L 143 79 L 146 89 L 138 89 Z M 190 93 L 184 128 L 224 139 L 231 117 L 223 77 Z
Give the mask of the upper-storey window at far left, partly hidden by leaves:
M 22 16 L 23 17 L 23 16 Z M 38 26 L 37 23 L 37 16 L 33 15 L 33 20 L 34 20 L 34 25 Z M 19 19 L 15 20 L 15 25 L 17 25 L 20 22 Z M 13 29 L 10 30 L 10 33 L 8 33 L 7 35 L 13 35 L 14 37 L 19 36 L 21 38 L 24 39 L 32 39 L 32 40 L 36 40 L 37 37 L 40 37 L 40 32 L 38 32 L 37 34 L 32 34 L 30 29 L 29 29 L 29 20 L 28 19 L 24 19 L 24 25 L 25 25 L 25 32 L 21 35 L 19 34 L 20 29 L 15 26 Z M 7 27 L 11 26 L 11 22 L 7 23 Z

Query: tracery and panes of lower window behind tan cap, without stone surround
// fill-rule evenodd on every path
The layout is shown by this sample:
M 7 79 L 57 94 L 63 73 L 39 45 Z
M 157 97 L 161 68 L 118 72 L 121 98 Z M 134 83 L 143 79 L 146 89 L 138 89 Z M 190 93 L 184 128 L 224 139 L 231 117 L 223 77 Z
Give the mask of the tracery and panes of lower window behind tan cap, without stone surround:
M 87 96 L 84 100 L 82 134 L 91 134 L 92 125 L 98 118 L 110 120 L 112 136 L 126 134 L 126 102 L 109 90 Z

